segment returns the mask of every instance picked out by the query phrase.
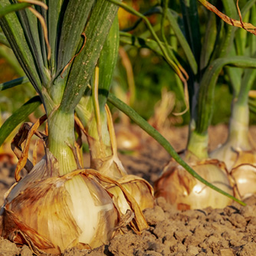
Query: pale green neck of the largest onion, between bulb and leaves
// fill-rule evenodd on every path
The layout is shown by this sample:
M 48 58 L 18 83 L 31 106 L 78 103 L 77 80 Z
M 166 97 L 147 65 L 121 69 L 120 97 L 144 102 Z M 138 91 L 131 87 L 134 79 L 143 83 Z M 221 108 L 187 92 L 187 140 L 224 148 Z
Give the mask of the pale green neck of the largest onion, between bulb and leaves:
M 74 147 L 74 111 L 55 110 L 48 117 L 48 148 L 56 157 L 60 175 L 77 169 L 71 146 Z

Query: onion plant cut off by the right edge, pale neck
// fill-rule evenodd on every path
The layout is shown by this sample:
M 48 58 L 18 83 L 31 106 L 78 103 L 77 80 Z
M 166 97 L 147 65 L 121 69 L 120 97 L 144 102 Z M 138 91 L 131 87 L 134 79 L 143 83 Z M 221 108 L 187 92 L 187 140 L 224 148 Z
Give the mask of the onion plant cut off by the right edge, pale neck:
M 245 16 L 252 24 L 255 23 L 255 5 L 252 6 L 248 15 Z M 245 19 L 244 18 L 244 19 Z M 243 54 L 251 57 L 255 56 L 256 38 L 246 32 L 236 34 L 237 42 L 235 54 Z M 212 158 L 225 162 L 228 172 L 235 178 L 238 186 L 238 193 L 245 198 L 255 191 L 255 148 L 249 136 L 249 106 L 248 94 L 252 84 L 254 84 L 255 69 L 228 69 L 233 87 L 233 101 L 231 107 L 231 118 L 229 122 L 228 139 L 211 153 Z

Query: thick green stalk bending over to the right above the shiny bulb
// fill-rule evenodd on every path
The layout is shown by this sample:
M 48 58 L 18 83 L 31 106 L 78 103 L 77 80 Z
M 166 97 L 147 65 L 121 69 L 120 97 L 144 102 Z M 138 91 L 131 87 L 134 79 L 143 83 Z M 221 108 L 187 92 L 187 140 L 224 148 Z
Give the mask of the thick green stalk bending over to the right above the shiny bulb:
M 197 108 L 192 117 L 196 117 L 195 121 L 191 122 L 191 131 L 189 134 L 189 143 L 187 146 L 187 152 L 185 153 L 185 158 L 188 160 L 192 157 L 192 159 L 198 158 L 199 160 L 208 158 L 207 153 L 207 145 L 208 145 L 208 125 L 212 118 L 212 105 L 213 105 L 213 96 L 215 84 L 218 78 L 218 74 L 222 71 L 222 67 L 225 65 L 232 65 L 235 67 L 256 67 L 256 63 L 253 58 L 250 57 L 226 57 L 226 58 L 218 58 L 213 61 L 212 64 L 205 71 L 199 89 L 199 97 L 197 101 Z M 246 94 L 241 94 L 241 97 L 247 98 Z M 194 98 L 192 98 L 194 99 Z M 192 104 L 193 105 L 193 104 Z M 196 115 L 195 115 L 196 113 Z M 194 156 L 193 156 L 194 155 Z M 207 160 L 207 159 L 205 159 Z M 219 164 L 218 164 L 219 165 Z M 222 165 L 221 165 L 222 166 Z M 195 168 L 195 167 L 194 167 Z M 251 167 L 250 167 L 251 168 Z M 170 170 L 171 172 L 172 170 Z M 166 169 L 165 171 L 166 172 Z M 238 172 L 238 171 L 236 171 Z M 250 171 L 251 172 L 251 171 Z M 254 173 L 251 172 L 252 176 Z M 164 175 L 164 173 L 163 173 Z M 163 176 L 162 175 L 162 176 Z M 227 173 L 228 175 L 228 173 Z M 222 183 L 225 183 L 229 179 L 223 179 Z M 245 179 L 241 179 L 243 182 Z M 211 180 L 209 182 L 214 182 Z M 161 191 L 162 188 L 159 187 L 159 181 L 156 182 L 156 193 L 159 195 L 157 191 Z M 219 182 L 218 182 L 219 184 Z M 166 185 L 166 184 L 165 184 Z M 226 188 L 229 190 L 229 186 L 233 185 L 232 183 L 226 183 Z M 166 185 L 167 186 L 167 185 Z M 230 190 L 229 190 L 230 191 Z M 241 193 L 241 192 L 240 192 Z M 227 201 L 228 202 L 228 201 Z M 217 204 L 212 205 L 212 207 L 218 207 Z

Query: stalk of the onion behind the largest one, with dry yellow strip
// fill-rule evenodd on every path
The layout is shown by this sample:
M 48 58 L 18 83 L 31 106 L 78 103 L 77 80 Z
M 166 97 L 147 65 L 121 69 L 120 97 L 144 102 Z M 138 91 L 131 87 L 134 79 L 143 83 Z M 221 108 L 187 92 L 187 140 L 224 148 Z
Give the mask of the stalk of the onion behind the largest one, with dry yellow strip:
M 91 161 L 100 159 L 101 163 L 113 155 L 105 105 L 117 64 L 118 49 L 119 23 L 116 17 L 100 53 L 98 67 L 95 68 L 92 90 L 87 90 L 76 108 L 77 116 L 89 135 L 87 140 L 90 144 Z

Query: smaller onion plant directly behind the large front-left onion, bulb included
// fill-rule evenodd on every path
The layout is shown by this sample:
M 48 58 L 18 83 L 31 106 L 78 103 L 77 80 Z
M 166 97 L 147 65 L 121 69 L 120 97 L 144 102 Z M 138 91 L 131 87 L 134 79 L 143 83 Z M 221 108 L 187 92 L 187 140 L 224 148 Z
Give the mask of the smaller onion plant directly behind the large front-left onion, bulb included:
M 153 207 L 153 188 L 149 182 L 127 174 L 117 155 L 117 139 L 113 120 L 107 107 L 107 95 L 110 90 L 113 71 L 117 64 L 119 46 L 118 19 L 113 21 L 112 28 L 100 54 L 99 64 L 94 71 L 91 90 L 87 90 L 77 105 L 77 116 L 82 122 L 90 148 L 90 167 L 97 169 L 104 176 L 120 182 L 134 197 L 141 210 Z M 108 74 L 107 78 L 103 74 Z M 88 111 L 89 110 L 89 111 Z M 123 193 L 117 185 L 103 184 L 117 200 L 122 214 L 130 210 Z

